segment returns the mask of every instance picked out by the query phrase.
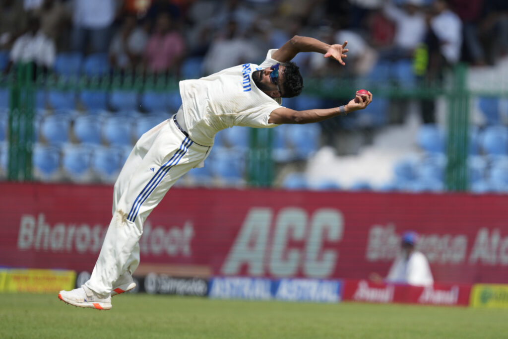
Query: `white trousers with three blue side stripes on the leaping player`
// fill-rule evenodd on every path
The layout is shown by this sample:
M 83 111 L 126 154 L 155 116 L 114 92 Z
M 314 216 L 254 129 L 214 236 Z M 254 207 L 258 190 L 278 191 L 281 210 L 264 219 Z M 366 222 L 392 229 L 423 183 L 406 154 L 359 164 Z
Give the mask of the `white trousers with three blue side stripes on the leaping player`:
M 173 118 L 141 136 L 115 182 L 113 219 L 86 287 L 108 295 L 121 274 L 134 273 L 148 214 L 179 177 L 205 160 L 209 150 L 186 137 Z

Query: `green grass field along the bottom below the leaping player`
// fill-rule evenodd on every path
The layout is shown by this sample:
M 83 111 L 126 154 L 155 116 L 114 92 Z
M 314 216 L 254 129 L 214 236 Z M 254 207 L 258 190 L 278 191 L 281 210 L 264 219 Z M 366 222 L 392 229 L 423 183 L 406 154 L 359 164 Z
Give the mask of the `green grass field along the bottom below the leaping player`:
M 508 310 L 128 294 L 113 309 L 0 294 L 0 338 L 506 338 Z

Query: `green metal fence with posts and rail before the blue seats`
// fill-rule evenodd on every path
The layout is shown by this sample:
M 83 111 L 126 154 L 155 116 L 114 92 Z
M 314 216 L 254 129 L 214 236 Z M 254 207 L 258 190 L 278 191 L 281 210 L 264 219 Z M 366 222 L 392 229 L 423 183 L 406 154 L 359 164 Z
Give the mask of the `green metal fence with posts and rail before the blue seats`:
M 366 79 L 306 79 L 305 94 L 326 99 L 348 100 L 356 89 L 368 88 L 375 98 L 391 100 L 446 98 L 448 102 L 448 167 L 446 184 L 449 191 L 467 190 L 467 148 L 469 99 L 467 68 L 457 66 L 440 83 L 416 83 L 407 86 L 396 81 L 373 82 Z M 108 74 L 105 76 L 62 77 L 38 73 L 30 65 L 17 65 L 15 72 L 0 79 L 0 86 L 10 90 L 8 179 L 32 179 L 31 149 L 34 135 L 34 97 L 37 89 L 81 90 L 123 89 L 143 93 L 178 88 L 175 78 L 141 74 Z M 375 100 L 375 99 L 374 99 Z M 247 181 L 250 186 L 269 187 L 275 175 L 271 157 L 271 129 L 250 130 Z

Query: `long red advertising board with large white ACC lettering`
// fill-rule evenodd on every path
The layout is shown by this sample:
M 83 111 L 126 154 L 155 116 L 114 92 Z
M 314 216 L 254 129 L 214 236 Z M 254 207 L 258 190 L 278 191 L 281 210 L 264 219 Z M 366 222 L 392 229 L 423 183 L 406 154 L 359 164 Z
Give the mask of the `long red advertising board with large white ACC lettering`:
M 0 183 L 0 191 L 1 266 L 92 269 L 112 187 Z M 362 280 L 388 272 L 410 229 L 437 283 L 506 283 L 507 205 L 503 195 L 174 188 L 144 225 L 141 265 Z

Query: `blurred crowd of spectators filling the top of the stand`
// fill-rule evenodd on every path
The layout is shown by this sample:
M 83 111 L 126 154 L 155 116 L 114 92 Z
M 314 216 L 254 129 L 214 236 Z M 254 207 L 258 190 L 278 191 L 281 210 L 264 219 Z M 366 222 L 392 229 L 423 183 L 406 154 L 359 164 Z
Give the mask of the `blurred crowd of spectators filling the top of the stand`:
M 202 56 L 208 74 L 260 60 L 295 34 L 348 40 L 350 62 L 334 71 L 353 74 L 368 73 L 379 58 L 412 58 L 422 43 L 437 46 L 446 64 L 492 65 L 508 53 L 501 0 L 3 0 L 1 7 L 0 50 L 13 48 L 16 61 L 34 45 L 43 55 L 33 57 L 49 68 L 57 53 L 77 51 L 109 53 L 119 69 L 176 75 L 182 60 Z M 297 61 L 311 75 L 330 75 L 320 58 Z

